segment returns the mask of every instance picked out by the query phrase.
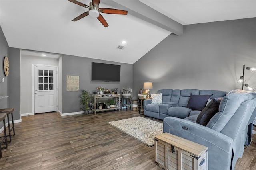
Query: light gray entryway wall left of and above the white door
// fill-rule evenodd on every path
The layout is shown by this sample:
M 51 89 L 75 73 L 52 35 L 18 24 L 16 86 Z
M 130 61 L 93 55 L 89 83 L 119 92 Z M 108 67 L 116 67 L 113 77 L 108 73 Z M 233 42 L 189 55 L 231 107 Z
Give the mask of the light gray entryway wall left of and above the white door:
M 30 55 L 21 56 L 20 114 L 32 113 L 32 64 L 58 66 L 58 59 Z

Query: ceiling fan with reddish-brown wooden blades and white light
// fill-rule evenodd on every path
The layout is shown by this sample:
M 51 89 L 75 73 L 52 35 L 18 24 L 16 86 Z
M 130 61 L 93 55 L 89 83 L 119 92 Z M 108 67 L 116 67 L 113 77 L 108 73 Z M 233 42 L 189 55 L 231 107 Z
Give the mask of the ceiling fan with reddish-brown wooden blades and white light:
M 73 2 L 75 4 L 78 4 L 80 6 L 83 6 L 84 8 L 89 8 L 89 11 L 84 12 L 80 16 L 74 18 L 72 21 L 77 21 L 80 20 L 81 18 L 84 18 L 85 16 L 92 16 L 96 17 L 104 27 L 108 27 L 108 23 L 106 20 L 103 18 L 103 16 L 100 14 L 106 13 L 106 14 L 121 14 L 121 15 L 127 15 L 127 11 L 125 10 L 117 10 L 117 9 L 112 9 L 112 8 L 99 8 L 100 0 L 92 0 L 89 5 L 83 4 L 82 2 L 78 2 L 77 0 L 68 0 L 70 2 Z

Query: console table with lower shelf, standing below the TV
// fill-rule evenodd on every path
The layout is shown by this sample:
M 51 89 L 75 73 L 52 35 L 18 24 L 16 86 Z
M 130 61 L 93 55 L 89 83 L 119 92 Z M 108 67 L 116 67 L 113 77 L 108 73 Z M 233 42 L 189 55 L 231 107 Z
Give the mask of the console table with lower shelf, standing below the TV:
M 121 96 L 120 94 L 94 94 L 93 95 L 94 109 L 92 109 L 92 111 L 94 112 L 95 115 L 97 111 L 108 111 L 108 110 L 115 110 L 115 109 L 119 109 L 120 111 L 121 110 L 120 96 Z M 97 109 L 97 99 L 103 99 L 103 98 L 115 98 L 116 106 L 118 107 L 109 108 L 109 109 Z

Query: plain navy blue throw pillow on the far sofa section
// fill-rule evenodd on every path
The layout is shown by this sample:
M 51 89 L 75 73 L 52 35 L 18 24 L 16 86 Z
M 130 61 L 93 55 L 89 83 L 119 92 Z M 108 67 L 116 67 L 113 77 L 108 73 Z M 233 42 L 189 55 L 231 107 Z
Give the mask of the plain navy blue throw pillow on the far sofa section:
M 208 94 L 205 94 L 205 95 L 191 94 L 191 96 L 188 100 L 187 107 L 192 110 L 202 110 L 206 106 L 206 103 L 211 96 L 212 96 L 211 94 L 210 95 L 208 95 Z

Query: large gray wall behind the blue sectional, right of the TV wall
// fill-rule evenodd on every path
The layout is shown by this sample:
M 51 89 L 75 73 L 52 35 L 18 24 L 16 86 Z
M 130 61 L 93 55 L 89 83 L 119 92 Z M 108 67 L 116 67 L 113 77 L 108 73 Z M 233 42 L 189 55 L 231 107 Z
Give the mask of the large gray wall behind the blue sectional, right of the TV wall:
M 230 91 L 241 88 L 243 64 L 256 65 L 256 18 L 185 25 L 184 34 L 169 35 L 133 64 L 133 88 L 153 82 L 163 88 Z M 256 74 L 245 71 L 250 86 Z M 248 78 L 250 80 L 248 81 Z

